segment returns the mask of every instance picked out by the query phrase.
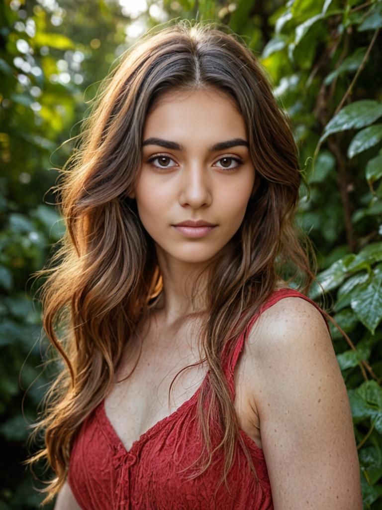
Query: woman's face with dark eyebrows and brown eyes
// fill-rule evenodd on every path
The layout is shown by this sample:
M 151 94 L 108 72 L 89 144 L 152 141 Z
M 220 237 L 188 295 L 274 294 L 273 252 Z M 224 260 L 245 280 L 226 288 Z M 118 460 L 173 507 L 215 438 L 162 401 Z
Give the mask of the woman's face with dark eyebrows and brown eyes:
M 147 116 L 142 140 L 142 169 L 130 197 L 158 257 L 208 261 L 238 230 L 254 191 L 243 117 L 219 90 L 172 91 Z M 175 226 L 186 220 L 214 226 Z

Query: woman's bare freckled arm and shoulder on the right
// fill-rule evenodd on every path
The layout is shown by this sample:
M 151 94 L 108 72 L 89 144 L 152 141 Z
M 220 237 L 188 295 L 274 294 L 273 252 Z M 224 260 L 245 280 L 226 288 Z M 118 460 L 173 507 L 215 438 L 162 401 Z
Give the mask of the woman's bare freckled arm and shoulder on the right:
M 362 510 L 349 400 L 322 314 L 281 299 L 255 322 L 248 352 L 275 510 Z

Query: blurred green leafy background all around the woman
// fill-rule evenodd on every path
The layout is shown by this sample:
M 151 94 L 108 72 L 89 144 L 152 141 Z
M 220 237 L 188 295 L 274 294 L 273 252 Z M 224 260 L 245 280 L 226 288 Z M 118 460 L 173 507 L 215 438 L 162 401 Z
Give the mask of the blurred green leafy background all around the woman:
M 363 0 L 0 2 L 0 510 L 37 509 L 42 499 L 20 465 L 52 374 L 42 366 L 41 282 L 31 274 L 63 234 L 50 191 L 73 148 L 63 142 L 115 59 L 146 30 L 180 18 L 228 24 L 292 120 L 306 176 L 297 222 L 346 333 L 331 325 L 364 508 L 381 510 L 382 2 Z M 314 286 L 310 297 L 323 296 Z

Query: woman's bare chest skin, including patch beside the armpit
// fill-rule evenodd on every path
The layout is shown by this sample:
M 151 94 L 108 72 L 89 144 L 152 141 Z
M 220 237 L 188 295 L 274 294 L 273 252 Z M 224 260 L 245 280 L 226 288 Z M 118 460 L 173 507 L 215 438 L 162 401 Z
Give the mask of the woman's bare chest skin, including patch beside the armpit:
M 193 328 L 186 326 L 175 332 L 162 330 L 159 336 L 160 340 L 158 331 L 149 330 L 141 344 L 126 346 L 115 383 L 105 398 L 107 418 L 127 450 L 145 432 L 192 398 L 208 370 L 206 362 L 198 364 L 200 356 Z M 170 385 L 178 373 L 169 401 Z M 244 344 L 234 369 L 234 407 L 239 428 L 261 448 L 250 375 Z

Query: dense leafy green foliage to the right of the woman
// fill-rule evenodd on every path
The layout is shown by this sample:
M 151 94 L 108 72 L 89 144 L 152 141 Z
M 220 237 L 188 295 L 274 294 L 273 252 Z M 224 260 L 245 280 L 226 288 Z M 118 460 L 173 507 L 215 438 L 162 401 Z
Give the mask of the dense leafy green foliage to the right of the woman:
M 318 282 L 347 335 L 345 342 L 331 325 L 351 403 L 364 507 L 380 508 L 382 3 L 291 0 L 276 14 L 262 64 L 292 120 L 310 186 L 308 193 L 302 185 L 298 223 L 317 248 Z M 310 296 L 323 297 L 319 285 Z

